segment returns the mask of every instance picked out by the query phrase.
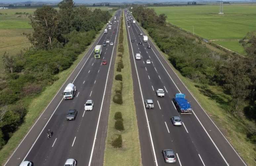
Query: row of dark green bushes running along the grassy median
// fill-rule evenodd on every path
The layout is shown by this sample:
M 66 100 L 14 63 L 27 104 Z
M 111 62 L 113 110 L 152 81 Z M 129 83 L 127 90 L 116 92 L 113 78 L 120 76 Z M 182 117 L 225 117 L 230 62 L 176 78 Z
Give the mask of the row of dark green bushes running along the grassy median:
M 121 24 L 120 24 L 120 33 L 119 33 L 119 40 L 118 40 L 118 52 L 117 53 L 117 59 L 116 59 L 116 71 L 121 72 L 124 68 L 122 57 L 124 53 L 123 48 L 123 15 L 121 16 Z M 121 73 L 115 75 L 116 80 L 116 86 L 115 86 L 115 95 L 113 97 L 113 102 L 122 105 L 123 99 L 122 99 L 122 90 L 123 90 L 123 76 Z M 116 112 L 114 115 L 115 120 L 115 129 L 118 131 L 124 130 L 123 125 L 123 117 L 121 112 Z M 111 145 L 114 148 L 121 148 L 122 147 L 122 135 L 117 134 L 114 136 L 113 140 L 111 141 Z

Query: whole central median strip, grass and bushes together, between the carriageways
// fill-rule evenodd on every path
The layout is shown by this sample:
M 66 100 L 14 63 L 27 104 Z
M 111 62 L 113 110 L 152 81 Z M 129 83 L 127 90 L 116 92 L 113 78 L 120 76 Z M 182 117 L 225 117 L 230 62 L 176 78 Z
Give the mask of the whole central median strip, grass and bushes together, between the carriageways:
M 117 57 L 112 86 L 112 99 L 108 118 L 105 166 L 139 166 L 141 151 L 136 110 L 133 98 L 133 82 L 125 24 L 119 33 Z M 123 65 L 122 62 L 125 62 Z

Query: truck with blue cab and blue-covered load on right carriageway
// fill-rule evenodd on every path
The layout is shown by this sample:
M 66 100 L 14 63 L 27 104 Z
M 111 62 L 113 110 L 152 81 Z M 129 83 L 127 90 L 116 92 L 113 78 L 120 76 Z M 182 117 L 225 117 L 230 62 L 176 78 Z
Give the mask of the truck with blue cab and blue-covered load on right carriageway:
M 192 107 L 185 98 L 185 94 L 176 94 L 175 98 L 173 98 L 173 103 L 180 114 L 192 114 Z

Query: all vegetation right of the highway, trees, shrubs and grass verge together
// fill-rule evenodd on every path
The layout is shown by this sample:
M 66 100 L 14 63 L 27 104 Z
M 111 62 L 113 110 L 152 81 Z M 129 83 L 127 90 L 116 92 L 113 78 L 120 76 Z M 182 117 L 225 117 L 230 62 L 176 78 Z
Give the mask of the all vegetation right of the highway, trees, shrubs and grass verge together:
M 255 165 L 256 33 L 240 41 L 245 57 L 221 54 L 166 23 L 164 14 L 141 6 L 132 13 L 237 152 Z

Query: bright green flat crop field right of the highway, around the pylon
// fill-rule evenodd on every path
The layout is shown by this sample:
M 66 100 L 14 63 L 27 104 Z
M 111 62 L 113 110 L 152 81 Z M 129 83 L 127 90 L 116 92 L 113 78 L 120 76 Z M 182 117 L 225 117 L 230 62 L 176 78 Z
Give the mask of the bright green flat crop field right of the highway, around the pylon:
M 157 14 L 166 14 L 171 24 L 190 31 L 228 49 L 244 54 L 239 43 L 248 32 L 256 30 L 256 4 L 191 5 L 153 7 Z

